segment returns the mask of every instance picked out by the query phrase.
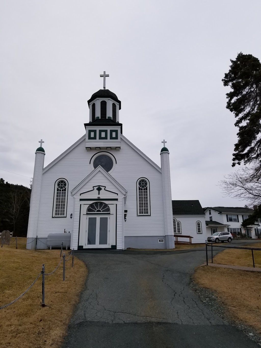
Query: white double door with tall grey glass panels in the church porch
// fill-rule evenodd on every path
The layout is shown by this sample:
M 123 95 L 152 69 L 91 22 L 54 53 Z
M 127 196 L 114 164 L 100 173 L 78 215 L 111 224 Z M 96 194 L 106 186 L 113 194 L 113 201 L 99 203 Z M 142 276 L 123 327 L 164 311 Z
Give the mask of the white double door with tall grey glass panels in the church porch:
M 85 248 L 109 248 L 110 215 L 87 215 Z

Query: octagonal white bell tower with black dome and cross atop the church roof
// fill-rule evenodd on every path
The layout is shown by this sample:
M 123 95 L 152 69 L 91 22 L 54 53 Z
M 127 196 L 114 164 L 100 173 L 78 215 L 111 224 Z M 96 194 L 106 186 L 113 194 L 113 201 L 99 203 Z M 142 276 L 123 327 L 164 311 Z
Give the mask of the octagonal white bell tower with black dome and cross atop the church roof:
M 86 150 L 120 150 L 120 135 L 122 124 L 119 123 L 121 101 L 117 95 L 106 89 L 106 74 L 103 77 L 103 89 L 95 92 L 88 100 L 89 123 L 86 128 Z

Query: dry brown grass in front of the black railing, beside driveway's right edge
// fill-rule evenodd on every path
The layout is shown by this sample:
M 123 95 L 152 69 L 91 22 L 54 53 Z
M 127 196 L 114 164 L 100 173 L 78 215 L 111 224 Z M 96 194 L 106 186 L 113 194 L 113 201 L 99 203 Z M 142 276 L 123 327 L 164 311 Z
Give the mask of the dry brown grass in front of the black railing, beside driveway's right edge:
M 232 318 L 261 332 L 261 273 L 201 266 L 194 280 L 216 291 Z

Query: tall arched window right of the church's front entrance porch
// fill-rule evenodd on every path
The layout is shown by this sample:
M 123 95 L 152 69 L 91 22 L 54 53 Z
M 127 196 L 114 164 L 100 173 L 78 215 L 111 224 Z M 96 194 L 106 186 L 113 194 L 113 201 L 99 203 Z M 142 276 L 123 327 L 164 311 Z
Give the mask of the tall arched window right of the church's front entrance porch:
M 150 183 L 144 177 L 137 180 L 137 215 L 150 215 Z

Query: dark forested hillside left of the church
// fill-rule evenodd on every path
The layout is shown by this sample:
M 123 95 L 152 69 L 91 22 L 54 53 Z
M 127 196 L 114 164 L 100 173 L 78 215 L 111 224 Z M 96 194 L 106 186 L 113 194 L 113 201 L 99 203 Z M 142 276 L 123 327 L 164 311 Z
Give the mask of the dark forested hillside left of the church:
M 26 237 L 31 189 L 0 179 L 0 232 L 14 231 L 14 236 Z

